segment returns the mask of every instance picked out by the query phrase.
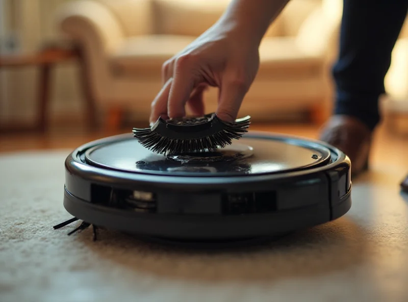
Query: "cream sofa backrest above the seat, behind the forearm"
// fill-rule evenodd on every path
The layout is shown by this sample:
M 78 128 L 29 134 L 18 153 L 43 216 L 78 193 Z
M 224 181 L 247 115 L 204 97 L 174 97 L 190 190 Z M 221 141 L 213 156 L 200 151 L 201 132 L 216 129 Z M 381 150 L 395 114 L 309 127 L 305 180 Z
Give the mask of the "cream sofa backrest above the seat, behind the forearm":
M 127 36 L 198 36 L 211 27 L 231 0 L 97 0 L 107 5 Z M 266 36 L 296 36 L 322 0 L 291 0 Z

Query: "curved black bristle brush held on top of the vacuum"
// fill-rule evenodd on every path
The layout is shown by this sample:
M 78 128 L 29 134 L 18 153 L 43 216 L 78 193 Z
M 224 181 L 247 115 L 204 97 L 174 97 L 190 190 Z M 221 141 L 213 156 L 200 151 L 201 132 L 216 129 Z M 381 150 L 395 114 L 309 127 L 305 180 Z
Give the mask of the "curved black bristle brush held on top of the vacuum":
M 187 129 L 189 126 L 180 127 L 180 131 L 176 129 L 172 133 L 164 124 L 162 126 L 166 128 L 166 135 L 163 134 L 164 131 L 160 131 L 160 127 L 134 128 L 133 135 L 141 145 L 159 154 L 214 152 L 218 148 L 230 145 L 233 139 L 240 139 L 248 131 L 249 120 L 248 116 L 237 119 L 234 123 L 227 123 L 214 115 L 209 120 L 212 123 L 211 127 L 199 133 L 189 131 Z

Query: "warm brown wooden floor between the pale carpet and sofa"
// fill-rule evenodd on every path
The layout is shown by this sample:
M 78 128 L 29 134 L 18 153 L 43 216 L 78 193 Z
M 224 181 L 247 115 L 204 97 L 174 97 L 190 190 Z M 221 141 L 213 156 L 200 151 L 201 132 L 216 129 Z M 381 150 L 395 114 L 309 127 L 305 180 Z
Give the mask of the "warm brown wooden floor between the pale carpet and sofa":
M 317 138 L 319 129 L 309 124 L 253 124 L 251 130 Z M 0 136 L 0 153 L 14 153 L 23 150 L 73 149 L 83 143 L 129 132 L 123 129 L 117 133 L 107 131 L 90 132 L 85 128 L 57 128 L 40 134 L 12 134 Z M 400 172 L 408 173 L 408 137 L 391 133 L 379 127 L 374 136 L 371 165 L 393 166 Z

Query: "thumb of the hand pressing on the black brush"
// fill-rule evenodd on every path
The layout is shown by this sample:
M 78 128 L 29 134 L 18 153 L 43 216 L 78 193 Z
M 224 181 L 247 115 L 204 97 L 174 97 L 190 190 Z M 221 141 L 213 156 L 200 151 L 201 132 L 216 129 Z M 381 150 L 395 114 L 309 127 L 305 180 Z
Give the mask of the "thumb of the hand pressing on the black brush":
M 248 90 L 245 81 L 225 78 L 220 87 L 217 116 L 226 122 L 234 122 L 241 108 L 242 100 Z

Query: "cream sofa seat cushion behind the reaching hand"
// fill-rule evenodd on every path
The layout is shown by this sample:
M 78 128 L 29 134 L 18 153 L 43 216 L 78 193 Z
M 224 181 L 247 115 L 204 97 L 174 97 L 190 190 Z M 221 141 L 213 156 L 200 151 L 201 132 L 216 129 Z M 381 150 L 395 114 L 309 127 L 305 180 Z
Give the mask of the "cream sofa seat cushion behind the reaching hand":
M 118 74 L 133 77 L 160 77 L 162 64 L 194 41 L 193 36 L 149 35 L 123 41 L 110 57 Z M 321 68 L 322 59 L 306 55 L 294 38 L 269 38 L 260 46 L 259 77 L 311 77 Z

